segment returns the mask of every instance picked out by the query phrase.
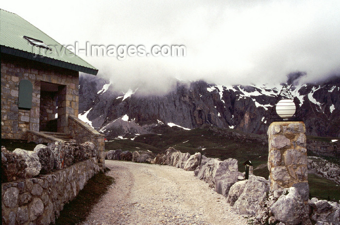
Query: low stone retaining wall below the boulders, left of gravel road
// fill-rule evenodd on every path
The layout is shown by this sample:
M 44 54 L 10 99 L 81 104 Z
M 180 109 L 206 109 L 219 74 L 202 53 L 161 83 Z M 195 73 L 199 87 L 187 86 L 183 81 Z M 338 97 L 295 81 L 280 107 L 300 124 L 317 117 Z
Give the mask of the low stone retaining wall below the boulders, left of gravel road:
M 99 172 L 96 158 L 36 178 L 1 185 L 3 225 L 49 225 L 54 223 L 64 205 Z

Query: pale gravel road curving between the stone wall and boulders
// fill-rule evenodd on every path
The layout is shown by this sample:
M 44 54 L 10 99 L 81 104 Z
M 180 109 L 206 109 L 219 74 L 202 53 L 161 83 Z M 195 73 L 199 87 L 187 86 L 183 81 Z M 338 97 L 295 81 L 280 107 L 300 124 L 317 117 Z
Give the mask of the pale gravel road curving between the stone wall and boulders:
M 115 178 L 82 225 L 246 225 L 226 199 L 193 172 L 105 160 Z

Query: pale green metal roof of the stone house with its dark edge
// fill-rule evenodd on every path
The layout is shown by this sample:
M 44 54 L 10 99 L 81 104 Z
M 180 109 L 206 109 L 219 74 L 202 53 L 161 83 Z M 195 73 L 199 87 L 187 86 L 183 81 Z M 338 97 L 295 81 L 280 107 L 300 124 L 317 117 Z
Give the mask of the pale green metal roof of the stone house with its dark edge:
M 52 51 L 33 46 L 24 36 L 43 41 Z M 17 14 L 2 9 L 0 9 L 0 52 L 93 75 L 98 73 L 98 69 L 70 52 L 49 35 Z

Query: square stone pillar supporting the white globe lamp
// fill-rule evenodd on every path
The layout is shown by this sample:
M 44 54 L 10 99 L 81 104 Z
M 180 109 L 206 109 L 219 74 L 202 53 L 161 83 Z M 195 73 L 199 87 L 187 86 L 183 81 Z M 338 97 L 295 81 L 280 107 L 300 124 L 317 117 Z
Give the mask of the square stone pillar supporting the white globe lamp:
M 268 128 L 271 190 L 295 187 L 309 198 L 306 127 L 301 121 L 272 122 Z

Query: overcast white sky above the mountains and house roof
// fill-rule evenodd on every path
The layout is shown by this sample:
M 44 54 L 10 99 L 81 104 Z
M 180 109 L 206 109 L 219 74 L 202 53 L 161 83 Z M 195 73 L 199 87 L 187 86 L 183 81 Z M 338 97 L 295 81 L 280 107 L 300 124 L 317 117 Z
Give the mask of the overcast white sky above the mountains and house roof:
M 340 74 L 339 0 L 2 1 L 65 45 L 184 45 L 185 57 L 80 54 L 118 89 L 167 90 L 173 78 L 232 85 Z

